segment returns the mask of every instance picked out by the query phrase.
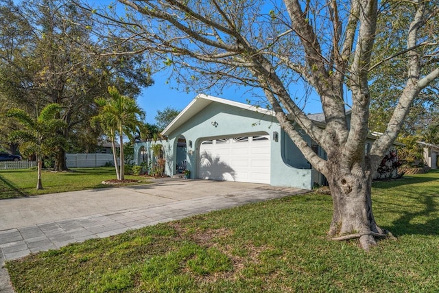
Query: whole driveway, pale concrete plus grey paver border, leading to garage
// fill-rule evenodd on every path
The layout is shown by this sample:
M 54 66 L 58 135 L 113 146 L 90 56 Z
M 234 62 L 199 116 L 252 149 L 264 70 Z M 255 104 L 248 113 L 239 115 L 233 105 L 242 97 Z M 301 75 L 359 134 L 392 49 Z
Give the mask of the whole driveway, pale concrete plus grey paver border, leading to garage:
M 13 292 L 4 260 L 249 202 L 307 191 L 253 183 L 165 180 L 0 200 L 0 293 Z

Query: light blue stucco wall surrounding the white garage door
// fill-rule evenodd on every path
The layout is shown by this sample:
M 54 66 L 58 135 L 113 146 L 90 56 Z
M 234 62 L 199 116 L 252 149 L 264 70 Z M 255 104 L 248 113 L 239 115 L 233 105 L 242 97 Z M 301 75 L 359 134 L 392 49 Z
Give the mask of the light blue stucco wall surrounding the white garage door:
M 216 122 L 216 126 L 213 125 L 214 122 Z M 277 141 L 273 139 L 274 132 L 278 133 Z M 187 143 L 186 160 L 187 169 L 191 171 L 190 177 L 198 178 L 199 150 L 202 141 L 220 137 L 239 137 L 243 134 L 246 136 L 269 134 L 271 143 L 271 185 L 300 189 L 311 189 L 313 187 L 311 169 L 305 169 L 309 164 L 307 164 L 302 154 L 295 149 L 294 143 L 291 145 L 292 142 L 287 141 L 275 117 L 218 102 L 212 102 L 209 106 L 206 106 L 171 132 L 167 141 L 162 142 L 166 154 L 166 174 L 169 176 L 176 174 L 177 141 L 181 135 L 185 137 Z M 148 143 L 136 143 L 134 145 L 134 154 L 138 154 L 141 145 L 148 149 L 150 146 Z M 138 157 L 136 156 L 136 158 Z M 178 160 L 180 160 L 180 157 L 181 154 L 178 155 Z M 285 163 L 285 157 L 289 159 L 289 164 Z M 297 166 L 299 167 L 292 166 L 294 164 L 291 160 L 294 160 L 294 158 L 297 159 Z

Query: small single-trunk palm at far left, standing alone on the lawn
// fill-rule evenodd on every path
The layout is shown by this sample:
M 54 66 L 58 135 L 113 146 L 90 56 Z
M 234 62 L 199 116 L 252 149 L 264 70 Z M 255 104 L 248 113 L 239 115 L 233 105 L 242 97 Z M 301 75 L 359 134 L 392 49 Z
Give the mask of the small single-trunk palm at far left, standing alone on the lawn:
M 22 152 L 36 154 L 38 161 L 36 189 L 43 189 L 41 182 L 43 155 L 53 153 L 56 146 L 64 143 L 64 137 L 56 136 L 56 130 L 66 126 L 65 121 L 56 118 L 60 110 L 60 105 L 48 104 L 36 119 L 19 108 L 13 108 L 7 113 L 9 117 L 14 117 L 23 126 L 21 130 L 11 132 L 12 141 L 20 142 Z

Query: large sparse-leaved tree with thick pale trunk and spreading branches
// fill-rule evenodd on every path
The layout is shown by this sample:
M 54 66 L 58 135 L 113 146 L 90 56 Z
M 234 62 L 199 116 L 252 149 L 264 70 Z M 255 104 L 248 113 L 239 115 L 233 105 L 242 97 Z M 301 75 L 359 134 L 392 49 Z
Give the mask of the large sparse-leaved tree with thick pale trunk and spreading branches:
M 431 30 L 438 23 L 438 0 L 407 2 L 408 25 L 395 31 L 405 49 L 396 55 L 379 51 L 385 56 L 379 60 L 372 59 L 377 21 L 401 1 L 118 2 L 126 5 L 125 18 L 113 17 L 117 10 L 92 12 L 102 23 L 111 20 L 112 36 L 132 44 L 125 54 L 154 52 L 180 82 L 199 88 L 237 82 L 264 93 L 283 130 L 328 180 L 333 239 L 359 238 L 368 249 L 375 237 L 386 236 L 372 213 L 372 178 L 410 105 L 439 77 L 437 30 Z M 390 61 L 402 62 L 404 79 L 383 135 L 366 154 L 369 74 Z M 306 86 L 320 99 L 324 129 L 301 110 L 298 93 Z M 327 152 L 327 159 L 313 152 L 299 130 Z

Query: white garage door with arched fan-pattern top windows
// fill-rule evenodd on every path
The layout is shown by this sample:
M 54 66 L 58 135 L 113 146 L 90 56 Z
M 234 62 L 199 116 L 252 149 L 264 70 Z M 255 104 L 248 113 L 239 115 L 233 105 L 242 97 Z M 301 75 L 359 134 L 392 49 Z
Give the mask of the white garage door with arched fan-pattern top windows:
M 198 178 L 270 184 L 269 136 L 203 141 Z

